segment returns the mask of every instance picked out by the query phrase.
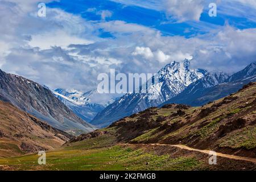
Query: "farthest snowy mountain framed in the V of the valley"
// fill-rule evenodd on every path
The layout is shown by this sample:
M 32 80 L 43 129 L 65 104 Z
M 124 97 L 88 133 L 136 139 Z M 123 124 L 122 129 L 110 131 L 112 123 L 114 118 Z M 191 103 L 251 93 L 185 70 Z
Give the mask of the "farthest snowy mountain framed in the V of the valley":
M 96 114 L 115 101 L 111 94 L 100 94 L 97 90 L 82 93 L 75 89 L 55 89 L 53 94 L 85 121 L 92 121 Z

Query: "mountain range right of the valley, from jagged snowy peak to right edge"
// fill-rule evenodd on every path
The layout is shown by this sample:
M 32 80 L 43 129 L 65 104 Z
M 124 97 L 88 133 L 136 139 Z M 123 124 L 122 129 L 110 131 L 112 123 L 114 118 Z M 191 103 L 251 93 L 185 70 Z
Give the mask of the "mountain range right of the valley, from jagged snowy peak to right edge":
M 177 103 L 200 106 L 237 92 L 243 85 L 255 81 L 255 63 L 229 76 L 225 73 L 209 73 L 204 69 L 191 69 L 188 60 L 172 62 L 158 72 L 159 84 L 148 93 L 127 93 L 96 115 L 92 124 L 105 127 L 123 117 L 149 107 Z M 152 94 L 156 100 L 148 100 Z

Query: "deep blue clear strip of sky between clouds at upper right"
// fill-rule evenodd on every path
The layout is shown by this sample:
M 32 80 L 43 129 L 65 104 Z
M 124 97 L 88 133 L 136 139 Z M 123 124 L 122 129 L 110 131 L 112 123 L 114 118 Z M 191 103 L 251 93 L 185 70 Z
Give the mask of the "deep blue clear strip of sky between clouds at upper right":
M 129 2 L 129 1 L 127 1 Z M 213 2 L 213 1 L 209 1 Z M 143 2 L 141 2 L 143 3 Z M 138 1 L 139 4 L 139 1 Z M 218 4 L 217 10 L 219 10 L 216 17 L 210 17 L 209 12 L 209 3 L 206 1 L 203 3 L 205 6 L 203 12 L 201 13 L 200 20 L 198 22 L 179 22 L 179 19 L 175 19 L 172 16 L 166 16 L 164 10 L 152 9 L 150 6 L 142 7 L 140 5 L 126 5 L 126 3 L 119 3 L 114 1 L 68 1 L 61 0 L 59 2 L 50 2 L 48 3 L 49 7 L 60 8 L 68 13 L 81 15 L 82 18 L 86 20 L 100 21 L 101 13 L 100 11 L 111 11 L 112 15 L 107 17 L 106 20 L 122 20 L 127 23 L 136 23 L 143 26 L 156 28 L 161 31 L 163 35 L 166 36 L 196 36 L 198 34 L 205 34 L 209 32 L 211 28 L 216 29 L 218 26 L 224 26 L 225 23 L 229 23 L 230 26 L 245 29 L 245 28 L 255 28 L 256 22 L 255 19 L 247 19 L 245 16 L 241 16 L 240 6 L 244 6 L 239 2 L 232 2 L 232 6 L 237 6 L 237 13 L 233 10 L 226 10 L 227 6 L 230 6 L 228 2 L 222 2 Z M 250 6 L 244 6 L 244 14 L 247 16 L 255 15 L 255 10 Z M 249 10 L 249 11 L 247 11 Z M 228 11 L 233 11 L 232 14 Z M 248 13 L 249 12 L 249 13 Z M 250 17 L 251 17 L 250 16 Z M 104 36 L 109 37 L 110 34 L 103 34 Z

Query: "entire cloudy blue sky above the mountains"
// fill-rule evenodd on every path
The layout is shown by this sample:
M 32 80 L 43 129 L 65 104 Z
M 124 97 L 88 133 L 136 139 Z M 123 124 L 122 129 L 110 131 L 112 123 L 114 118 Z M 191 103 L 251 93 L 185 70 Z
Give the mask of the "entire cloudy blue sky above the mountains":
M 37 15 L 40 2 L 46 17 Z M 208 14 L 212 2 L 216 17 Z M 254 0 L 5 0 L 0 7 L 0 68 L 51 88 L 94 89 L 110 68 L 156 73 L 189 59 L 231 74 L 256 59 Z

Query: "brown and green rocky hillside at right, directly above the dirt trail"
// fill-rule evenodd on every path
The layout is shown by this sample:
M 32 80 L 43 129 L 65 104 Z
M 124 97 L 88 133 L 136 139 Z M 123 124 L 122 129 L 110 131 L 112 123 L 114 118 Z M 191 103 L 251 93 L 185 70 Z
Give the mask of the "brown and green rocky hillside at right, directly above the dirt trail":
M 256 83 L 201 107 L 169 104 L 119 119 L 67 145 L 93 140 L 104 145 L 180 144 L 256 158 Z M 92 141 L 91 141 L 92 142 Z

